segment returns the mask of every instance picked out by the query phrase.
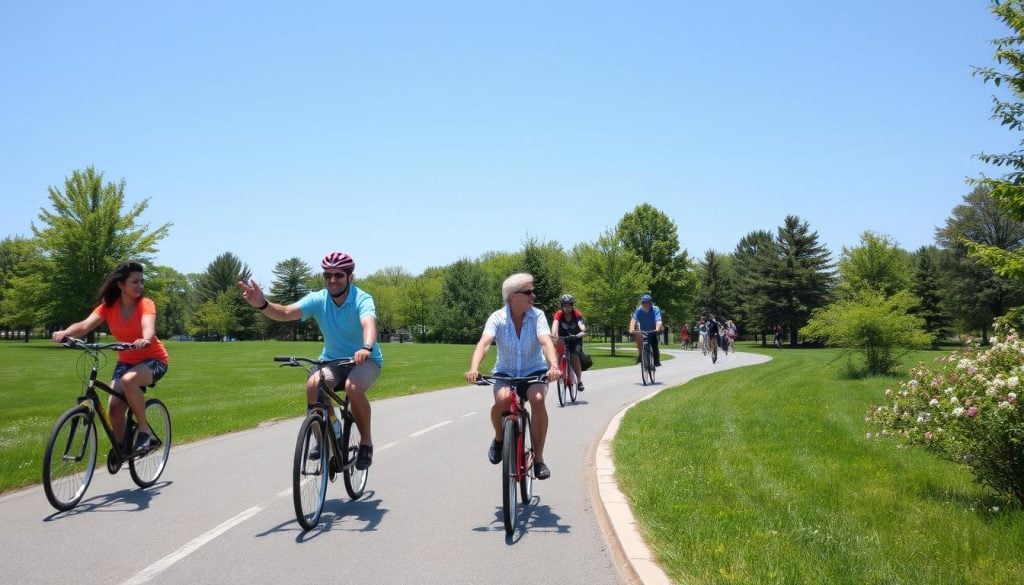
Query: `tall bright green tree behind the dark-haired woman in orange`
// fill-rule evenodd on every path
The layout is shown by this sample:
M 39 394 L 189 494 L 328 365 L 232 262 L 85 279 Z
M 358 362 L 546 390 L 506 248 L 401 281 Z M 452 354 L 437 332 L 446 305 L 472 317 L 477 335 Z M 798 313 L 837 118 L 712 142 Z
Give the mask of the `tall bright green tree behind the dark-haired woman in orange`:
M 150 200 L 125 212 L 124 179 L 104 184 L 93 167 L 66 177 L 63 191 L 50 186 L 48 192 L 52 209 L 40 211 L 40 225 L 33 223 L 32 232 L 53 268 L 42 285 L 60 301 L 47 307 L 46 320 L 67 325 L 89 314 L 96 291 L 118 262 L 147 260 L 171 224 L 156 229 L 137 224 Z

